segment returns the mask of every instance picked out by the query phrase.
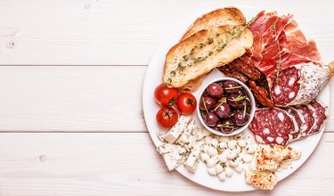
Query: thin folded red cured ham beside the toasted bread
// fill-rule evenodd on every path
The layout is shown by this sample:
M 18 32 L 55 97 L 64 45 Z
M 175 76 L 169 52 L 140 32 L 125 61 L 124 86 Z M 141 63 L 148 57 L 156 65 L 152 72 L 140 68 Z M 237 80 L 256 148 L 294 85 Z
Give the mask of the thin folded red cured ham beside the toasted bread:
M 259 12 L 249 26 L 254 35 L 248 50 L 255 65 L 265 75 L 298 63 L 313 62 L 321 66 L 321 57 L 314 41 L 307 41 L 292 15 L 278 16 L 276 12 Z

